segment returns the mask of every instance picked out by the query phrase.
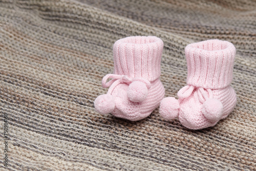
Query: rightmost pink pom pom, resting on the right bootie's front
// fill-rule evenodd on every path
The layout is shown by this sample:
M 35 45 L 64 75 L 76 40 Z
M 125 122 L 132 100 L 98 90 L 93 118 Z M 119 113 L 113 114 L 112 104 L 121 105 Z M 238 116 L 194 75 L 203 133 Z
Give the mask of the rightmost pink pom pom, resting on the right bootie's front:
M 209 98 L 202 106 L 202 113 L 209 120 L 219 120 L 222 116 L 223 105 L 218 99 Z

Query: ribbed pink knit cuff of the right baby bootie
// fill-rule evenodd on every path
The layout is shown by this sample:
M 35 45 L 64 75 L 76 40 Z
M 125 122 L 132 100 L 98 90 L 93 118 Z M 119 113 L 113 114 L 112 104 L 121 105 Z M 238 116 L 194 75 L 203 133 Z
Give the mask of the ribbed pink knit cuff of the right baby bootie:
M 232 81 L 236 48 L 218 39 L 190 44 L 185 48 L 187 84 L 205 89 L 220 89 Z

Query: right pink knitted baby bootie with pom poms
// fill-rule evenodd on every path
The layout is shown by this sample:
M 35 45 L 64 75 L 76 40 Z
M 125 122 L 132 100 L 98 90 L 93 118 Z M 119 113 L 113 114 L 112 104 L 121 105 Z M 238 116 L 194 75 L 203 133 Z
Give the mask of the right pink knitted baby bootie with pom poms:
M 161 101 L 160 114 L 167 120 L 178 116 L 182 125 L 193 130 L 214 126 L 237 103 L 230 87 L 236 48 L 228 41 L 206 40 L 188 45 L 185 55 L 187 86 L 178 92 L 178 100 Z

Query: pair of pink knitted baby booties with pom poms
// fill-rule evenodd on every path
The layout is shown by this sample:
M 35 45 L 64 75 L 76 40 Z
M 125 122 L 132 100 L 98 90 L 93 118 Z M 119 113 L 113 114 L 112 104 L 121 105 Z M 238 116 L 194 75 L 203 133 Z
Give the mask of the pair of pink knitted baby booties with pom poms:
M 237 96 L 230 87 L 236 55 L 231 42 L 213 39 L 185 48 L 187 86 L 178 92 L 179 99 L 164 98 L 159 79 L 162 50 L 163 41 L 155 36 L 117 40 L 113 47 L 114 73 L 102 79 L 102 87 L 110 88 L 95 99 L 95 110 L 137 121 L 160 104 L 164 119 L 178 117 L 182 125 L 193 130 L 214 126 L 232 112 Z

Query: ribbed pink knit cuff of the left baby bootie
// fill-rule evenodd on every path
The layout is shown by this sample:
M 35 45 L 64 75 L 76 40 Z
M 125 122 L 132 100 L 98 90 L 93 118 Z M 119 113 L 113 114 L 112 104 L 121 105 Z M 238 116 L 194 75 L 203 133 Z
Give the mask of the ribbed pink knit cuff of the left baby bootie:
M 143 77 L 154 81 L 160 77 L 163 41 L 155 36 L 131 36 L 119 39 L 113 47 L 114 74 Z

